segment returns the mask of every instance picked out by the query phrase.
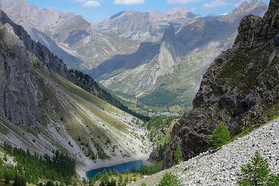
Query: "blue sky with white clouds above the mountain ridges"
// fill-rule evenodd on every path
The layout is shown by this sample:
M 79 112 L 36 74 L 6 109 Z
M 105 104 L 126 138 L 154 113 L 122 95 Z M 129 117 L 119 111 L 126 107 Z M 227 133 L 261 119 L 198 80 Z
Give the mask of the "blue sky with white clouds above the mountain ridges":
M 56 8 L 82 15 L 94 24 L 122 10 L 158 10 L 167 12 L 184 6 L 193 13 L 220 15 L 236 8 L 243 0 L 27 0 L 39 8 Z M 249 1 L 249 0 L 248 0 Z M 269 0 L 263 0 L 269 3 Z

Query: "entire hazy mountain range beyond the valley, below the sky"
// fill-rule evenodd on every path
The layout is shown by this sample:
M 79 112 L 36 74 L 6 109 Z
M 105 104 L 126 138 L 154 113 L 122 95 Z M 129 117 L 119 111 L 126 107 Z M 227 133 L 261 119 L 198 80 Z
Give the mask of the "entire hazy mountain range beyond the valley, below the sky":
M 33 40 L 145 113 L 192 107 L 202 75 L 232 46 L 241 18 L 262 16 L 267 9 L 254 0 L 221 16 L 201 17 L 186 8 L 128 10 L 91 24 L 80 15 L 41 10 L 25 0 L 1 0 L 0 5 Z

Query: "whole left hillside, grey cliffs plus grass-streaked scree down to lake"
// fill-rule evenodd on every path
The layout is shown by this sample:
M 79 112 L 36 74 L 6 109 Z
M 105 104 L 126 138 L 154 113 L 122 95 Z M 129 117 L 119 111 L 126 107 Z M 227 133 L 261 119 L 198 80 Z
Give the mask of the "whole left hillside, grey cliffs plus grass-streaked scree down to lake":
M 61 150 L 84 178 L 93 168 L 148 158 L 139 119 L 73 84 L 78 79 L 61 59 L 3 11 L 0 33 L 0 144 L 37 155 Z

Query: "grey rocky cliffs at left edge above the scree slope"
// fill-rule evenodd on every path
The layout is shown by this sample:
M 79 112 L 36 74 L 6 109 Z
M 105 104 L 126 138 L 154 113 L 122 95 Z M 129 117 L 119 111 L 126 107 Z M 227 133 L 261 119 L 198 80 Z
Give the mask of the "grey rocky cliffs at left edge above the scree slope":
M 0 116 L 13 123 L 33 125 L 41 118 L 39 102 L 43 93 L 33 70 L 36 59 L 45 61 L 42 68 L 54 77 L 59 72 L 68 76 L 66 65 L 46 47 L 31 40 L 22 26 L 14 24 L 0 11 L 1 24 L 1 88 Z

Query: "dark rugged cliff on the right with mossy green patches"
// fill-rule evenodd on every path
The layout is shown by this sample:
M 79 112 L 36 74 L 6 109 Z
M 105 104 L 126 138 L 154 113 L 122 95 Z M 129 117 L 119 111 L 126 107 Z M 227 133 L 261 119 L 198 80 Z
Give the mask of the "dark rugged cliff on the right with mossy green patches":
M 243 18 L 234 46 L 216 58 L 202 79 L 194 108 L 174 126 L 164 168 L 174 164 L 179 144 L 184 160 L 206 151 L 220 122 L 238 134 L 278 114 L 278 34 L 277 0 L 271 0 L 263 18 Z

